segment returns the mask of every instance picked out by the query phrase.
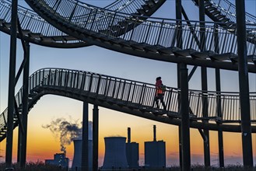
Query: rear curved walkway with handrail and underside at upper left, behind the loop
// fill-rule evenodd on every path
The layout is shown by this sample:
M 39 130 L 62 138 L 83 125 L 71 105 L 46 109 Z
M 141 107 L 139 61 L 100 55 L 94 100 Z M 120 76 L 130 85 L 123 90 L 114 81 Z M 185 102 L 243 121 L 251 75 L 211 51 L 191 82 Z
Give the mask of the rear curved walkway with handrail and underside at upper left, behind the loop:
M 120 12 L 136 12 L 136 8 L 139 5 L 146 3 L 146 0 L 137 0 L 136 3 L 127 3 L 128 0 L 117 0 L 114 3 L 107 5 L 104 9 L 112 9 Z M 129 0 L 130 1 L 130 0 Z M 81 5 L 83 2 L 79 2 Z M 10 23 L 11 19 L 11 7 L 12 2 L 10 0 L 0 0 L 0 19 L 1 23 Z M 122 8 L 120 8 L 120 5 Z M 92 6 L 92 5 L 91 5 Z M 50 23 L 47 23 L 43 18 L 33 12 L 31 9 L 27 9 L 23 6 L 18 7 L 18 16 L 21 23 L 25 38 L 29 39 L 34 44 L 40 44 L 49 47 L 86 47 L 91 45 L 84 40 L 76 39 L 61 30 L 58 30 Z M 74 17 L 77 17 L 74 15 Z M 9 29 L 1 26 L 0 30 L 5 33 L 9 33 Z M 36 35 L 37 34 L 37 35 Z

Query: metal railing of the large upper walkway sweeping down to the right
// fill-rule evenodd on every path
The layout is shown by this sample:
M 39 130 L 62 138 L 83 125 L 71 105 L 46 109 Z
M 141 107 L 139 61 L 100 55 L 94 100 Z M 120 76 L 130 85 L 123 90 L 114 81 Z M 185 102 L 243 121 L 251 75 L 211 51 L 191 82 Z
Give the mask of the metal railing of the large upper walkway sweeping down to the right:
M 189 49 L 209 53 L 219 49 L 218 54 L 227 54 L 227 56 L 230 56 L 230 59 L 226 60 L 237 58 L 236 27 L 226 30 L 216 28 L 218 23 L 206 22 L 205 28 L 201 28 L 200 22 L 198 21 L 189 21 L 189 24 L 187 23 L 188 21 L 181 21 L 182 26 L 177 26 L 177 20 L 174 19 L 150 17 L 146 20 L 146 18 L 142 19 L 142 16 L 131 16 L 121 12 L 113 12 L 82 5 L 79 5 L 75 11 L 80 12 L 80 16 L 86 16 L 84 14 L 88 15 L 84 18 L 72 17 L 67 20 L 71 13 L 68 12 L 69 10 L 66 10 L 66 8 L 71 6 L 72 2 L 70 0 L 63 0 L 59 5 L 54 5 L 54 2 L 55 1 L 52 0 L 40 0 L 38 2 L 38 4 L 40 4 L 38 8 L 47 6 L 47 8 L 52 10 L 49 12 L 58 13 L 58 15 L 52 15 L 52 18 L 61 20 L 61 23 L 81 33 L 89 33 L 89 35 L 93 33 L 95 37 L 104 36 L 112 40 L 117 39 L 119 42 L 123 41 L 124 43 L 132 42 L 132 44 L 145 46 L 173 48 L 177 47 L 177 33 L 179 32 L 181 36 L 178 38 L 183 42 L 183 50 Z M 112 28 L 111 26 L 119 27 Z M 247 32 L 251 33 L 250 37 L 255 37 L 252 42 L 247 42 L 247 55 L 249 58 L 254 58 L 256 55 L 256 25 L 247 24 Z M 203 42 L 205 42 L 205 44 L 198 44 L 197 39 L 195 39 L 195 36 L 200 37 L 201 35 L 204 35 Z M 219 41 L 216 41 L 216 35 Z M 247 36 L 249 37 L 249 34 L 247 34 Z M 202 49 L 204 51 L 201 51 Z M 212 54 L 212 56 L 214 57 L 214 54 Z

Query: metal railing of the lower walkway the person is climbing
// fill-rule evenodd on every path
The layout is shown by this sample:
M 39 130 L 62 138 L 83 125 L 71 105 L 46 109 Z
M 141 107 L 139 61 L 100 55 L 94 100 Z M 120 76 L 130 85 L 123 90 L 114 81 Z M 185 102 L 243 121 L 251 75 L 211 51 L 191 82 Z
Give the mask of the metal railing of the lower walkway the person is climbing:
M 109 75 L 100 75 L 93 72 L 83 72 L 62 68 L 44 68 L 34 72 L 29 80 L 29 92 L 33 98 L 33 93 L 37 89 L 51 89 L 71 92 L 81 96 L 102 99 L 106 102 L 132 106 L 138 110 L 156 112 L 163 111 L 156 108 L 154 98 L 156 88 L 153 84 L 146 82 L 136 82 L 128 79 L 121 79 Z M 202 92 L 189 90 L 189 106 L 191 117 L 195 120 L 215 120 L 219 122 L 240 122 L 240 99 L 238 92 Z M 167 116 L 181 117 L 179 114 L 180 89 L 167 87 L 163 101 L 167 106 Z M 16 95 L 18 106 L 22 104 L 22 89 Z M 207 102 L 207 103 L 204 103 Z M 256 92 L 250 93 L 251 120 L 256 120 Z M 207 110 L 203 111 L 203 106 L 207 105 Z M 0 115 L 0 130 L 6 125 L 6 109 Z M 170 113 L 170 114 L 168 114 Z M 205 117 L 207 113 L 207 117 Z

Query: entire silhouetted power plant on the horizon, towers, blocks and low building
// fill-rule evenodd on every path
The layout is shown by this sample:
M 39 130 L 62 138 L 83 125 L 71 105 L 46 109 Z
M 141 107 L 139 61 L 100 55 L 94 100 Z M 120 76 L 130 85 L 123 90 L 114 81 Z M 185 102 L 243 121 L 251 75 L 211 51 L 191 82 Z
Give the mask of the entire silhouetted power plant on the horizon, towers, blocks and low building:
M 105 137 L 105 155 L 103 160 L 103 170 L 139 169 L 139 143 L 132 142 L 131 128 L 128 127 L 128 138 L 125 137 Z M 80 171 L 82 165 L 82 140 L 73 140 L 74 156 L 71 170 Z M 93 140 L 91 136 L 89 145 L 89 170 L 93 170 Z M 145 141 L 145 167 L 150 169 L 160 169 L 166 167 L 166 143 L 156 141 L 156 125 L 153 125 L 153 141 Z M 68 166 L 68 158 L 65 153 L 56 153 L 54 159 L 46 159 L 45 163 L 56 166 Z

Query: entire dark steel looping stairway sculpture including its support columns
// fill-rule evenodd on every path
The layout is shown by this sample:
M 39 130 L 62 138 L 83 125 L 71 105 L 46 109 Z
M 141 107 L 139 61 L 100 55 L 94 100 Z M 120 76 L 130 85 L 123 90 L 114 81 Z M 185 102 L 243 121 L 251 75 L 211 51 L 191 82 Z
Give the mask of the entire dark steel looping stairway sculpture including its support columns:
M 245 12 L 243 0 L 236 0 L 236 5 L 227 0 L 192 0 L 198 5 L 199 21 L 189 20 L 181 0 L 175 1 L 176 19 L 149 17 L 165 0 L 117 0 L 105 9 L 69 0 L 26 2 L 34 12 L 18 6 L 17 0 L 0 1 L 0 30 L 11 36 L 8 109 L 0 115 L 0 140 L 6 138 L 7 168 L 12 167 L 12 131 L 17 126 L 18 162 L 25 166 L 27 114 L 40 96 L 49 93 L 82 100 L 83 121 L 88 120 L 88 103 L 94 105 L 93 168 L 97 168 L 98 106 L 178 125 L 182 170 L 191 168 L 191 127 L 202 134 L 206 167 L 210 166 L 209 131 L 218 131 L 220 166 L 224 166 L 223 131 L 242 134 L 244 168 L 253 166 L 251 133 L 256 132 L 256 127 L 251 124 L 256 122 L 256 111 L 252 107 L 255 98 L 249 92 L 248 72 L 256 72 L 256 17 Z M 205 22 L 205 15 L 213 22 Z M 181 20 L 182 16 L 185 20 Z M 22 40 L 24 59 L 16 72 L 17 37 Z M 155 88 L 147 83 L 56 68 L 41 69 L 29 78 L 30 43 L 64 48 L 96 45 L 141 58 L 174 62 L 178 85 L 165 93 L 167 110 L 163 111 L 153 107 Z M 187 65 L 194 65 L 190 73 Z M 189 90 L 188 82 L 198 67 L 202 90 Z M 216 68 L 215 92 L 208 91 L 207 68 Z M 239 72 L 240 92 L 221 92 L 220 69 Z M 22 72 L 23 88 L 15 96 Z M 191 117 L 191 112 L 195 116 Z M 88 134 L 83 132 L 83 136 Z M 88 142 L 83 141 L 83 169 L 88 167 L 86 152 Z

